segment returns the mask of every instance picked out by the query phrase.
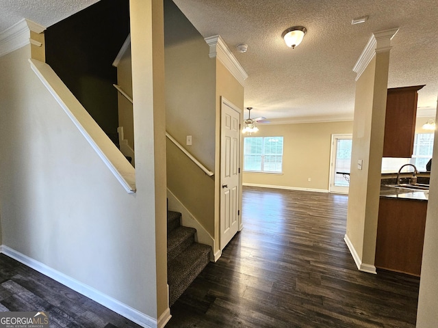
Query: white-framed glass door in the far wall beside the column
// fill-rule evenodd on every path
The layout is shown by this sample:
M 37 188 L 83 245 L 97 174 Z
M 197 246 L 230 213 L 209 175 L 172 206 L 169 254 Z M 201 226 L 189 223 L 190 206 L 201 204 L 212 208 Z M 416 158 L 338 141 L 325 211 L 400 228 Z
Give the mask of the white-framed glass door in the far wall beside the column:
M 332 135 L 330 163 L 330 192 L 348 193 L 352 135 Z

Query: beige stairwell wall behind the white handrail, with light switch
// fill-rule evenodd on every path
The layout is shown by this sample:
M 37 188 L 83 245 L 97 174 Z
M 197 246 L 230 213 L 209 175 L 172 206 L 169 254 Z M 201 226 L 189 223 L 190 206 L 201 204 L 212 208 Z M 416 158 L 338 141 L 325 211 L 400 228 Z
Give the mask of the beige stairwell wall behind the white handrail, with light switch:
M 210 171 L 215 165 L 216 62 L 209 46 L 171 0 L 164 1 L 166 130 Z M 185 145 L 192 135 L 192 146 Z M 214 176 L 167 142 L 168 188 L 214 236 Z

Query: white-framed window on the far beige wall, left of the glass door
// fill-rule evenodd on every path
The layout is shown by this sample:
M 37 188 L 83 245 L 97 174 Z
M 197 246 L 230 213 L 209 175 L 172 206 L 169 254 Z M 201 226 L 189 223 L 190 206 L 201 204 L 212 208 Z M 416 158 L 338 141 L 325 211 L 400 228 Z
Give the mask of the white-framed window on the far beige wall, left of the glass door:
M 244 171 L 283 172 L 283 137 L 245 137 Z

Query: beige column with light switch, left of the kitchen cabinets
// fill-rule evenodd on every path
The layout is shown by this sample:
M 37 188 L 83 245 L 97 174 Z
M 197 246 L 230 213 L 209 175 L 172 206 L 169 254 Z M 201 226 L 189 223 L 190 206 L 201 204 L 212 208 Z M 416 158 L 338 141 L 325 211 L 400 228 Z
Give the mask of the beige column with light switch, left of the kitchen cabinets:
M 388 68 L 389 51 L 376 53 L 356 83 L 346 236 L 365 271 L 374 270 Z

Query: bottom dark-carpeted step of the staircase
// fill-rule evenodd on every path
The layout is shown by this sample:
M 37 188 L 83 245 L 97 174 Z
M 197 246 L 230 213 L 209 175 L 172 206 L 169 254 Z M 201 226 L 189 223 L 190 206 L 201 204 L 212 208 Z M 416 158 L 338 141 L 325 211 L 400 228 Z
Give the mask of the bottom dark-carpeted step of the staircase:
M 209 263 L 211 247 L 193 243 L 177 258 L 168 261 L 169 303 L 172 305 Z

